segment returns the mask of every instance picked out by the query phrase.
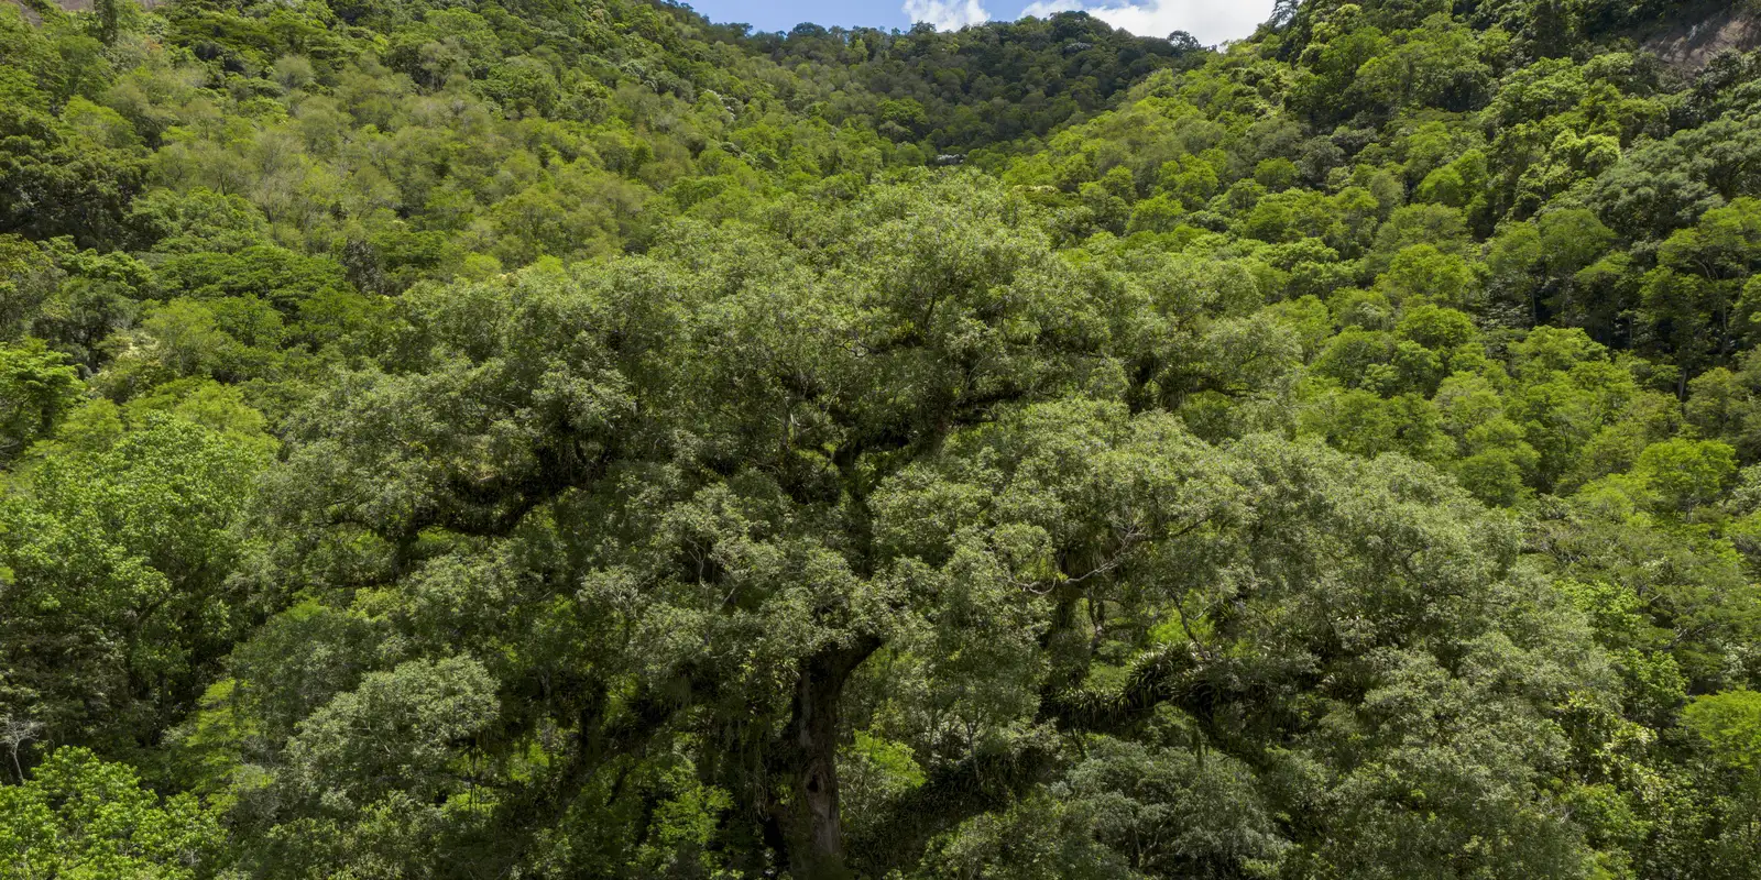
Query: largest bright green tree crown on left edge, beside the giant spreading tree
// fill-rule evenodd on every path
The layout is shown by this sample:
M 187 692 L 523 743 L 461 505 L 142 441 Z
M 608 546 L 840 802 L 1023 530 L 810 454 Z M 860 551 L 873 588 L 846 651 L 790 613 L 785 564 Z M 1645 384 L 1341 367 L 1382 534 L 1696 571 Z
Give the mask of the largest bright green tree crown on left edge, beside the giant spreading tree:
M 245 630 L 234 526 L 266 456 L 162 415 L 55 452 L 0 507 L 0 700 L 116 748 L 188 711 Z

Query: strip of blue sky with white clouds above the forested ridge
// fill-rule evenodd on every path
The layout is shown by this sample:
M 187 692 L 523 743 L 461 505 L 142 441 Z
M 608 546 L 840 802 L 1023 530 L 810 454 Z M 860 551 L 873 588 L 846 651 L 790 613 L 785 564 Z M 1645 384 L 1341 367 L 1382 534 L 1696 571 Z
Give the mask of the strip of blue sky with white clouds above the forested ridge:
M 1273 0 L 685 0 L 713 21 L 745 21 L 757 30 L 815 25 L 907 28 L 928 21 L 942 30 L 981 21 L 1087 9 L 1132 33 L 1166 37 L 1185 30 L 1201 42 L 1247 37 L 1271 14 Z

